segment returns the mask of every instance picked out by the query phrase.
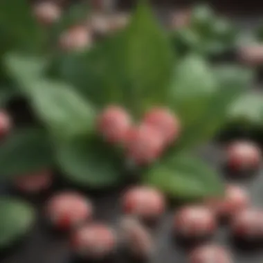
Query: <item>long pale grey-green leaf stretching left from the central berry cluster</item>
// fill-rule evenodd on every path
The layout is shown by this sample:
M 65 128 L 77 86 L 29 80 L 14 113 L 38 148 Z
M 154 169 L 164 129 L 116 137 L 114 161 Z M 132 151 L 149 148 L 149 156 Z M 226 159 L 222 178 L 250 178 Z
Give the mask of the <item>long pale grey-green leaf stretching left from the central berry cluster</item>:
M 46 60 L 10 53 L 6 56 L 6 65 L 53 135 L 74 136 L 93 131 L 93 107 L 74 87 L 44 78 Z

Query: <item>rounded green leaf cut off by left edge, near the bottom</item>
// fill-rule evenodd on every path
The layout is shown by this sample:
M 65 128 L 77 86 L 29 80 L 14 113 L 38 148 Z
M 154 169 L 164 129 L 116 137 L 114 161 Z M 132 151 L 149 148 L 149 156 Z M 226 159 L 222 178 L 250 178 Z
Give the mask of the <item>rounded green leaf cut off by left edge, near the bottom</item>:
M 26 235 L 34 219 L 35 211 L 28 203 L 0 197 L 0 248 L 7 248 Z

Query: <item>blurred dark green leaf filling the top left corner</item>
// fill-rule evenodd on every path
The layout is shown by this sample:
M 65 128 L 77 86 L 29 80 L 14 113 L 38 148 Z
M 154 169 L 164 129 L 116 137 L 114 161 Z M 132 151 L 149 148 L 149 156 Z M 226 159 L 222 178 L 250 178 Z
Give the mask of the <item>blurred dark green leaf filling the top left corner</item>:
M 46 43 L 46 33 L 35 21 L 30 4 L 26 0 L 1 0 L 0 32 L 6 46 L 0 48 L 6 52 L 18 47 L 26 51 L 41 51 Z

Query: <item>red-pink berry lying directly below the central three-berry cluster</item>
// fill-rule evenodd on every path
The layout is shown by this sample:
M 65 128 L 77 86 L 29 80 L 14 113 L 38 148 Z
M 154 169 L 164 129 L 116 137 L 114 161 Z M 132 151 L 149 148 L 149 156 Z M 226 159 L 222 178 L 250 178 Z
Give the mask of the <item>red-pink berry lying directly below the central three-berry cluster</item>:
M 123 211 L 140 219 L 152 221 L 160 217 L 165 210 L 165 198 L 155 188 L 138 186 L 125 192 Z

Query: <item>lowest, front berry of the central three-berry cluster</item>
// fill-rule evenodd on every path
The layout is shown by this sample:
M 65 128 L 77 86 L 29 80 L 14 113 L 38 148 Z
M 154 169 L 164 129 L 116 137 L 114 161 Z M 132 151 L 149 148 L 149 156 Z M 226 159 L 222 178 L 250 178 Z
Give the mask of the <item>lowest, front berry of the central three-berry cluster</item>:
M 143 124 L 128 131 L 125 146 L 129 161 L 135 165 L 148 165 L 163 153 L 163 135 L 153 126 Z

